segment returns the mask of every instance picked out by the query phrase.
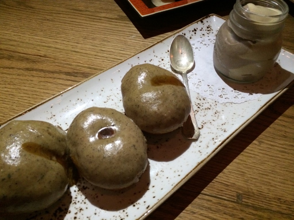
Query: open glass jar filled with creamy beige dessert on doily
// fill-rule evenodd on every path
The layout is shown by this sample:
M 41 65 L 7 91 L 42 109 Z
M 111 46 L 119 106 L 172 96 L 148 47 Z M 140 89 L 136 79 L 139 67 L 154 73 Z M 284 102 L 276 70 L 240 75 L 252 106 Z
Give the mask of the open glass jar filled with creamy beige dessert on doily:
M 275 15 L 268 15 L 263 9 Z M 261 79 L 280 54 L 281 32 L 288 11 L 283 0 L 237 0 L 216 35 L 216 72 L 243 83 Z

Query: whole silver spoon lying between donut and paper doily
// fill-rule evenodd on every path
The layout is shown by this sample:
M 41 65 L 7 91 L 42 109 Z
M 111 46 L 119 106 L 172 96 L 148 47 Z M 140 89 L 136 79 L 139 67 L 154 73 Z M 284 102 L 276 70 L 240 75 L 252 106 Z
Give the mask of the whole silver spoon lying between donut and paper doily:
M 191 101 L 187 72 L 191 70 L 194 65 L 194 53 L 190 41 L 184 35 L 177 35 L 171 42 L 171 47 L 169 50 L 169 60 L 171 62 L 171 67 L 182 74 L 184 85 Z M 191 129 L 189 129 L 189 125 L 191 125 L 191 122 L 193 128 L 191 127 Z M 188 117 L 186 123 L 183 124 L 183 133 L 189 139 L 197 139 L 200 135 L 192 102 L 190 119 Z

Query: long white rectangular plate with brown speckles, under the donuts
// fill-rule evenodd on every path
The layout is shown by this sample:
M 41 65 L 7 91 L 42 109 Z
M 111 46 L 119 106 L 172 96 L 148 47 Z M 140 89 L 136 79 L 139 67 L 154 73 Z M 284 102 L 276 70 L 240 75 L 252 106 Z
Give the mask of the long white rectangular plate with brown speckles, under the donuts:
M 184 34 L 191 40 L 214 37 L 223 22 L 216 15 L 196 21 L 14 119 L 48 121 L 67 130 L 74 117 L 91 106 L 111 107 L 123 112 L 121 79 L 131 66 L 148 62 L 171 70 L 168 50 L 177 34 Z M 212 60 L 212 54 L 202 55 Z M 110 191 L 81 180 L 52 207 L 17 219 L 144 219 L 293 84 L 294 55 L 282 50 L 279 64 L 288 76 L 283 87 L 256 100 L 221 104 L 191 91 L 201 136 L 197 141 L 187 140 L 181 129 L 165 135 L 146 135 L 149 163 L 137 184 Z M 203 63 L 196 63 L 196 68 L 199 71 L 211 69 Z

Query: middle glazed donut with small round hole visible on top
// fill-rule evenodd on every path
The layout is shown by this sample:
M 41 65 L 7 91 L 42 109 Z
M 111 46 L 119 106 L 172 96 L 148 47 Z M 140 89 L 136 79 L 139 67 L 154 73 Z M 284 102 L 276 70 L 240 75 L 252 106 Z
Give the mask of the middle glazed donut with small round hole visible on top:
M 132 185 L 148 163 L 140 128 L 111 108 L 91 107 L 80 112 L 69 126 L 67 143 L 80 175 L 101 188 Z

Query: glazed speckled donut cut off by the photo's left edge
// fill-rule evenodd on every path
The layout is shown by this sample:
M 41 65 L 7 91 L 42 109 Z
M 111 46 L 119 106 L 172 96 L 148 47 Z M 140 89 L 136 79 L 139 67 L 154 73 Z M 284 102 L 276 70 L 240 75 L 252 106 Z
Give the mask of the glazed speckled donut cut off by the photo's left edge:
M 0 129 L 0 212 L 49 207 L 66 191 L 66 133 L 44 121 L 11 121 Z

